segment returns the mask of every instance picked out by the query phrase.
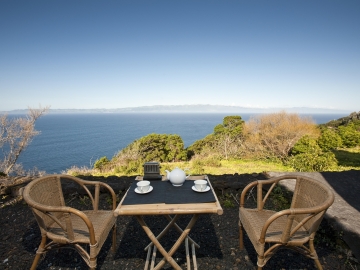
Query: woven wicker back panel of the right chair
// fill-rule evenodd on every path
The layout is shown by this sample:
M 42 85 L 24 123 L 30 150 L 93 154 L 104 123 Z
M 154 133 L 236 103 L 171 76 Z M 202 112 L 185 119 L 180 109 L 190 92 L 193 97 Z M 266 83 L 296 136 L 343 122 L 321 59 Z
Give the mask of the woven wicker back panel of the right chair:
M 316 215 L 308 220 L 304 227 L 309 234 L 316 232 L 322 217 L 327 208 L 334 201 L 334 193 L 330 187 L 321 183 L 318 180 L 300 176 L 296 179 L 294 195 L 291 202 L 291 208 L 314 208 Z M 298 214 L 295 220 L 301 222 L 308 214 Z

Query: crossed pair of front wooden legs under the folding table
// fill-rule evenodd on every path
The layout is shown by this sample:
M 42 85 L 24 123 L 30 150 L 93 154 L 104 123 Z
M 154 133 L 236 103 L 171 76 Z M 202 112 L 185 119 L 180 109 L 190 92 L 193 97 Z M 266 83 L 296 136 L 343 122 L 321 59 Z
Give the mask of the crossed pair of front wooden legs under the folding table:
M 178 248 L 178 246 L 180 245 L 180 243 L 177 245 L 176 249 L 174 250 L 174 246 L 179 242 L 180 238 L 178 239 L 178 241 L 175 243 L 175 245 L 173 246 L 173 248 L 170 250 L 169 253 L 166 252 L 166 250 L 163 248 L 163 246 L 160 244 L 160 242 L 156 239 L 155 235 L 151 232 L 151 230 L 149 229 L 149 227 L 147 226 L 147 224 L 145 223 L 144 219 L 142 218 L 142 216 L 136 216 L 137 221 L 139 222 L 139 224 L 141 225 L 141 227 L 143 228 L 143 230 L 145 231 L 145 233 L 147 234 L 147 236 L 150 238 L 150 240 L 154 243 L 154 245 L 157 247 L 157 249 L 160 251 L 160 253 L 164 256 L 164 259 L 160 262 L 162 263 L 162 265 L 159 267 L 159 264 L 154 268 L 154 269 L 160 269 L 164 264 L 165 261 L 167 261 L 168 263 L 170 263 L 170 265 L 172 267 L 174 267 L 174 269 L 176 270 L 181 270 L 181 267 L 175 262 L 175 260 L 171 257 L 176 249 Z M 193 220 L 194 217 L 191 219 Z M 196 221 L 196 220 L 195 220 Z M 189 226 L 189 225 L 188 225 Z M 191 226 L 192 227 L 192 226 Z M 187 228 L 185 229 L 184 233 L 185 237 L 187 235 L 187 233 L 189 233 L 189 231 L 187 231 Z M 183 235 L 182 234 L 182 235 Z M 182 236 L 181 235 L 181 236 Z M 181 237 L 180 236 L 180 237 Z M 184 239 L 182 239 L 184 240 Z

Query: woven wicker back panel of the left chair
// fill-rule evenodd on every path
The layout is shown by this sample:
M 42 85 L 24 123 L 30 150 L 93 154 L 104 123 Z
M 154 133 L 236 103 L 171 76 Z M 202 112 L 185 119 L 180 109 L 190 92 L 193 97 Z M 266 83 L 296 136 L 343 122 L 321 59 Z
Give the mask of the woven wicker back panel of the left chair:
M 40 208 L 46 207 L 50 212 L 51 207 L 65 206 L 59 176 L 44 176 L 33 180 L 26 186 L 23 195 L 25 201 L 32 208 L 40 228 L 45 231 L 54 223 L 54 220 Z M 52 215 L 60 219 L 64 214 L 53 212 Z

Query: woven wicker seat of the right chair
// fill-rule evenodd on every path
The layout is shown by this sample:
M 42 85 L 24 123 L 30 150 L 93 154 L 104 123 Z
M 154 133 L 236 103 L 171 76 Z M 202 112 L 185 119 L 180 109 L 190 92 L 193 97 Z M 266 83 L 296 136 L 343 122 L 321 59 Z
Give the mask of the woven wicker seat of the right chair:
M 277 212 L 271 210 L 257 210 L 257 209 L 248 209 L 240 208 L 239 216 L 241 224 L 243 225 L 245 231 L 247 232 L 248 237 L 250 238 L 252 244 L 254 245 L 257 252 L 262 253 L 264 245 L 259 242 L 261 230 L 265 222 Z M 287 216 L 281 216 L 274 220 L 271 225 L 268 227 L 265 242 L 267 243 L 281 243 L 281 236 L 285 230 L 287 222 Z M 293 221 L 292 229 L 298 225 L 296 220 Z M 289 239 L 288 245 L 302 245 L 306 243 L 309 239 L 309 234 L 307 230 L 301 226 L 297 232 Z M 262 251 L 262 252 L 261 252 Z

